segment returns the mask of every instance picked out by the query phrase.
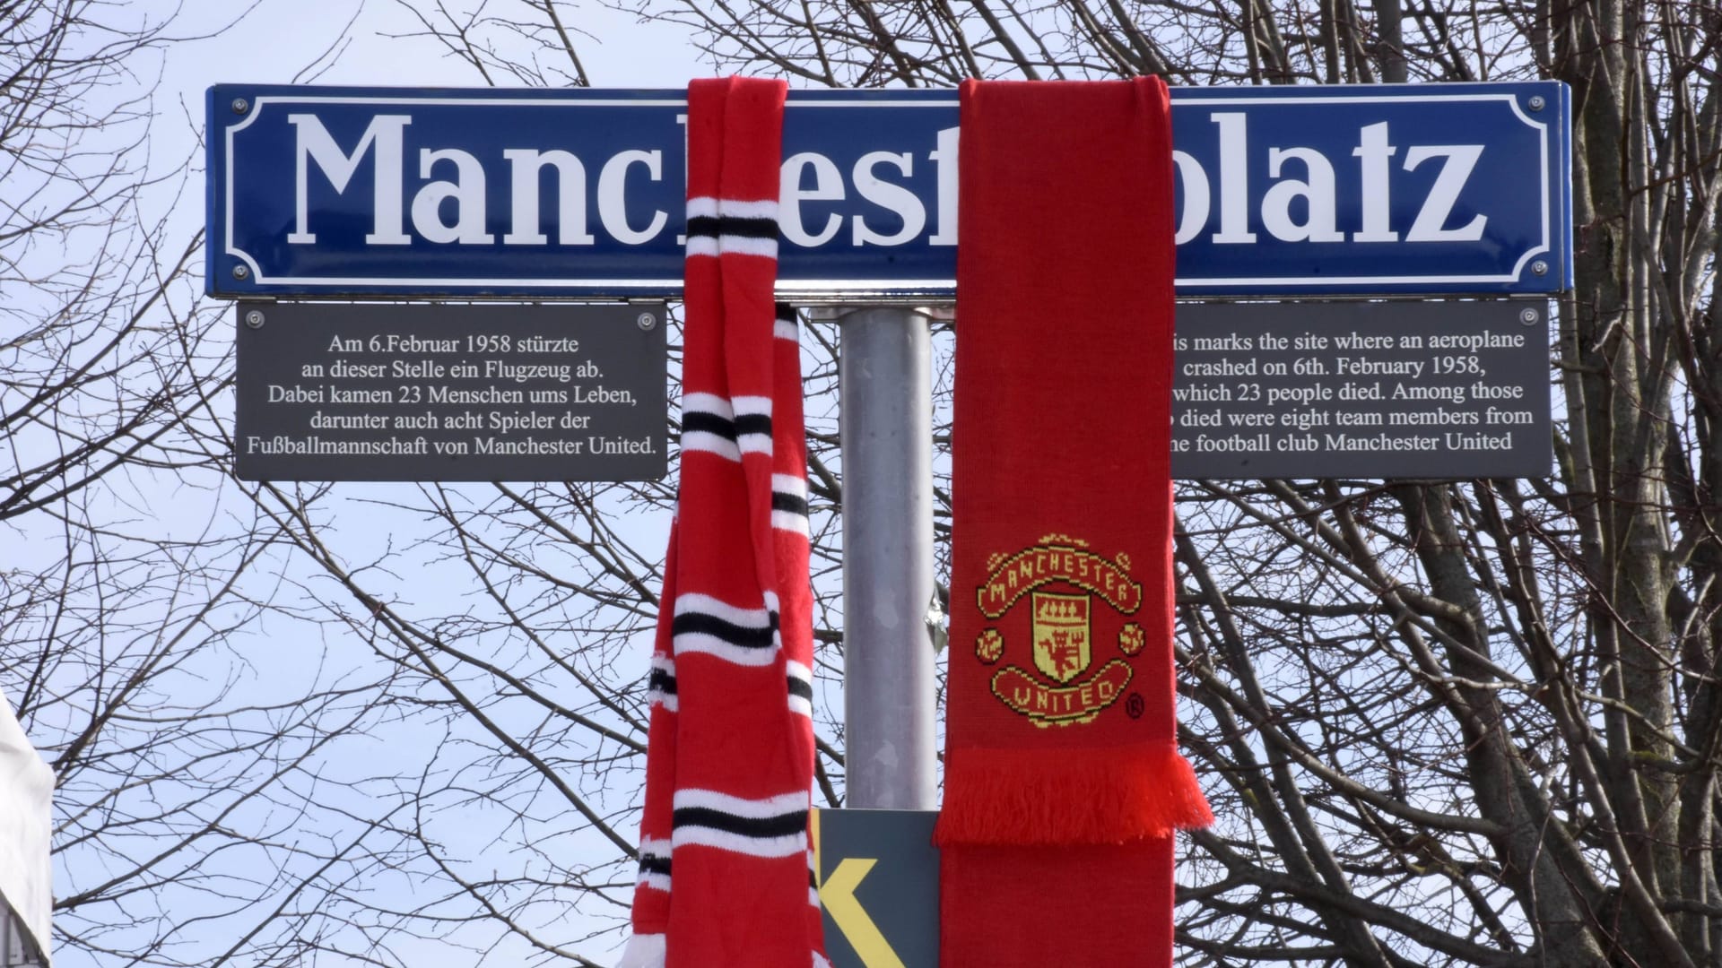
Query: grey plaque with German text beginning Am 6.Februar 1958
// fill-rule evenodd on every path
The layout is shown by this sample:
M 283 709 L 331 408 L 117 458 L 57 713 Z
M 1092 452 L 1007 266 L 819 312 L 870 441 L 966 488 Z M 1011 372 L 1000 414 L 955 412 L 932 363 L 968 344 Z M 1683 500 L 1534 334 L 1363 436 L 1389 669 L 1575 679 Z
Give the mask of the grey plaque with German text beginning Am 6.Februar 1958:
M 239 303 L 246 481 L 653 481 L 663 303 Z

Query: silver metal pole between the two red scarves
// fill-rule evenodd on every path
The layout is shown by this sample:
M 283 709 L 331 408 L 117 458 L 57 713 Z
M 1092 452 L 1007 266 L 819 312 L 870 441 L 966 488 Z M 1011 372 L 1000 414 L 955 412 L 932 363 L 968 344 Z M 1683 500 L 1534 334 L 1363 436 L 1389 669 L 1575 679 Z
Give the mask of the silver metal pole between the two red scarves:
M 932 341 L 911 310 L 839 322 L 846 806 L 937 810 Z

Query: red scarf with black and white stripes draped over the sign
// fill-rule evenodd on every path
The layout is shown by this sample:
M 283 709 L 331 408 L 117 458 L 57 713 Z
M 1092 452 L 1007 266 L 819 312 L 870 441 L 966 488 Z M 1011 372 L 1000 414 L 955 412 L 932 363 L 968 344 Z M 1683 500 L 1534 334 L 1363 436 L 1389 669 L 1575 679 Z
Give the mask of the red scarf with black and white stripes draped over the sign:
M 682 456 L 623 968 L 825 965 L 809 887 L 813 599 L 782 81 L 687 91 Z

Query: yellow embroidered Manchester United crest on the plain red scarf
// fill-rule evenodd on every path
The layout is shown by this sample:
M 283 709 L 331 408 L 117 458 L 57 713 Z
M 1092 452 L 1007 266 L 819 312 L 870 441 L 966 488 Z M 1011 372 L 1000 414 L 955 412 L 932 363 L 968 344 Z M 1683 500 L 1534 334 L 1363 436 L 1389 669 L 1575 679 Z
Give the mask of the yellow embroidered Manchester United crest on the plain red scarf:
M 987 665 L 1000 661 L 1006 639 L 1021 641 L 1002 620 L 1019 615 L 1014 606 L 1025 596 L 1030 613 L 1033 672 L 1018 665 L 995 672 L 992 694 L 1000 703 L 1045 729 L 1092 722 L 1124 694 L 1131 679 L 1124 658 L 1109 658 L 1099 670 L 1092 667 L 1095 599 L 1121 615 L 1142 608 L 1142 586 L 1130 579 L 1130 556 L 1104 558 L 1088 551 L 1087 541 L 1049 534 L 1016 555 L 994 555 L 987 568 L 976 603 L 995 624 L 982 629 L 975 656 Z M 1123 656 L 1142 651 L 1143 641 L 1135 622 L 1118 629 Z

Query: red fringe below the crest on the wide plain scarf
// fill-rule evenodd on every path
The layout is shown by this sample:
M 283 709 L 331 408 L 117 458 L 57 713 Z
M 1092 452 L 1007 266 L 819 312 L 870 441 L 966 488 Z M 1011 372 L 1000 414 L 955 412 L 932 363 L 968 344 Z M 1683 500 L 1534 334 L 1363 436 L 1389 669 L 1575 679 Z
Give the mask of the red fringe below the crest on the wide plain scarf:
M 1214 823 L 1171 741 L 1126 748 L 951 751 L 933 830 L 957 844 L 1123 844 Z

